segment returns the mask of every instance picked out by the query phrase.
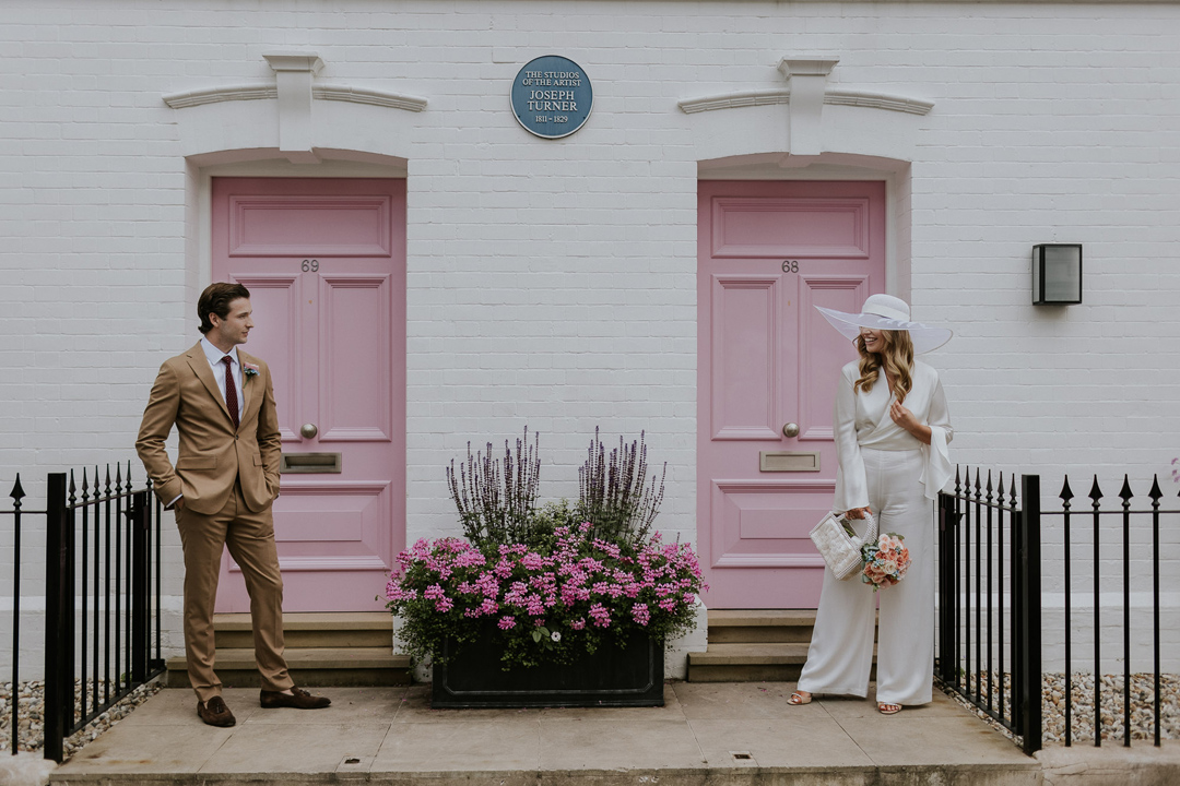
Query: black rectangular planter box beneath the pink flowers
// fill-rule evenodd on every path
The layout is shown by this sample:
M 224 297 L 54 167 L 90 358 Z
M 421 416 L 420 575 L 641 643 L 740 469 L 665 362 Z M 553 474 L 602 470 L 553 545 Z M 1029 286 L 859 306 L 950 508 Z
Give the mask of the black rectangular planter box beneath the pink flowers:
M 434 666 L 431 707 L 662 707 L 663 642 L 634 633 L 627 647 L 602 646 L 572 663 L 505 672 L 494 635 Z

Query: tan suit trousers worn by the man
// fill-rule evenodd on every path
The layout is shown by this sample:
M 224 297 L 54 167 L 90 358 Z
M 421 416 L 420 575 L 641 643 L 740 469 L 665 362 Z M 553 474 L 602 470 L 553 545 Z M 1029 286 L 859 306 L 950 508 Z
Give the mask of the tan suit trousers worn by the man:
M 179 510 L 176 526 L 184 547 L 184 652 L 189 681 L 201 701 L 221 695 L 222 683 L 214 672 L 214 601 L 221 574 L 222 547 L 241 566 L 250 594 L 254 623 L 254 660 L 262 687 L 286 691 L 294 683 L 283 659 L 283 579 L 270 506 L 251 513 L 235 484 L 225 507 L 214 515 Z

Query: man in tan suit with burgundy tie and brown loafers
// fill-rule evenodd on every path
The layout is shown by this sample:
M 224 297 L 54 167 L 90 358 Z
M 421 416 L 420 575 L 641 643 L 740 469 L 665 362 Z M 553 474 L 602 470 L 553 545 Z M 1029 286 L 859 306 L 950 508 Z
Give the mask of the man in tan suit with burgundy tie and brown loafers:
M 327 707 L 330 700 L 294 687 L 283 659 L 283 580 L 270 515 L 278 496 L 278 417 L 267 364 L 237 349 L 254 328 L 250 292 L 211 284 L 197 315 L 204 337 L 160 366 L 136 441 L 156 494 L 176 511 L 184 547 L 184 649 L 197 714 L 210 726 L 235 724 L 214 673 L 214 600 L 225 546 L 250 593 L 262 706 Z M 164 449 L 172 425 L 175 468 Z

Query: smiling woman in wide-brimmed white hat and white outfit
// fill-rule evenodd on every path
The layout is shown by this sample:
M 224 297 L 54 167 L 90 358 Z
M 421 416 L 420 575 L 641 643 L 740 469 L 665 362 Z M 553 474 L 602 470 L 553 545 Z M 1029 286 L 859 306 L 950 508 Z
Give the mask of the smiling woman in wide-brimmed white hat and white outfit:
M 932 500 L 951 476 L 953 431 L 938 372 L 913 355 L 940 346 L 951 331 L 910 322 L 910 306 L 889 295 L 871 296 L 859 315 L 820 311 L 860 352 L 841 369 L 835 394 L 832 509 L 850 519 L 876 515 L 879 531 L 905 539 L 911 563 L 900 583 L 879 593 L 859 576 L 839 581 L 824 570 L 807 663 L 789 702 L 808 704 L 813 693 L 867 695 L 879 597 L 877 707 L 891 715 L 931 700 Z

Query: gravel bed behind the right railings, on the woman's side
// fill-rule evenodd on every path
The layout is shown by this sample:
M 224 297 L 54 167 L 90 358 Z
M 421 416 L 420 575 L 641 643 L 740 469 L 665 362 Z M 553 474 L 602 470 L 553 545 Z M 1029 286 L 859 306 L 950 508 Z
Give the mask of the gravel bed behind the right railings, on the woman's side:
M 992 706 L 998 708 L 998 681 L 997 675 L 991 675 Z M 986 695 L 988 675 L 982 675 L 982 693 Z M 1102 740 L 1123 740 L 1123 687 L 1121 674 L 1103 675 L 1100 685 L 1102 694 Z M 970 683 L 971 692 L 975 691 L 975 680 Z M 1010 739 L 1011 732 L 982 712 L 975 709 L 953 691 L 943 689 L 959 704 L 971 709 L 977 715 L 989 721 L 992 726 L 1002 731 Z M 1010 675 L 1004 675 L 1004 713 L 1009 714 L 1009 702 L 1011 701 Z M 1043 742 L 1045 747 L 1066 744 L 1066 675 L 1045 674 L 1041 691 L 1041 712 L 1043 718 Z M 1070 727 L 1073 738 L 1070 742 L 1094 744 L 1094 675 L 1074 674 L 1070 686 Z M 1180 675 L 1160 675 L 1160 738 L 1165 740 L 1180 739 Z M 1132 674 L 1130 675 L 1130 739 L 1155 740 L 1155 675 Z

